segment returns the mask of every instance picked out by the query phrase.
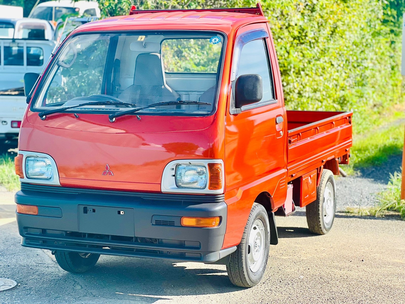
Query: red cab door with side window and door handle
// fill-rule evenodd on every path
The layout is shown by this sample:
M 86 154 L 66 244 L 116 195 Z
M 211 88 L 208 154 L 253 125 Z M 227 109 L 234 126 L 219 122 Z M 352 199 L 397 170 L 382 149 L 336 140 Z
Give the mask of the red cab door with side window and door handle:
M 240 75 L 262 78 L 262 100 L 237 109 L 235 83 Z M 249 214 L 256 197 L 267 192 L 272 208 L 283 205 L 286 182 L 286 111 L 273 43 L 266 24 L 238 31 L 233 49 L 231 86 L 225 128 L 226 194 L 228 214 L 233 209 Z M 232 206 L 233 205 L 233 206 Z M 243 219 L 244 221 L 244 219 Z M 230 229 L 237 229 L 229 227 Z

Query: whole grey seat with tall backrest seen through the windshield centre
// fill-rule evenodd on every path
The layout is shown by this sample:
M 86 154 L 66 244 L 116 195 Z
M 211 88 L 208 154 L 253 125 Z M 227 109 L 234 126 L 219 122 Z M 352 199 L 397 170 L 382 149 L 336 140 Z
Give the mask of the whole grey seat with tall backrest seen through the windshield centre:
M 180 100 L 180 95 L 166 84 L 161 55 L 142 53 L 136 57 L 134 84 L 118 98 L 137 107 L 145 107 L 152 103 Z

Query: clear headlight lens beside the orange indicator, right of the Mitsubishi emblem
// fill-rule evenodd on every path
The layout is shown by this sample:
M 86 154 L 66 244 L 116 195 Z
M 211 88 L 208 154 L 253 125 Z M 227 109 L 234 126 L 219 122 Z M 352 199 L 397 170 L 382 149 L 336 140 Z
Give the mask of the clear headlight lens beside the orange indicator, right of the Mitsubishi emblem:
M 207 168 L 203 165 L 176 166 L 176 186 L 179 188 L 204 189 L 207 186 Z

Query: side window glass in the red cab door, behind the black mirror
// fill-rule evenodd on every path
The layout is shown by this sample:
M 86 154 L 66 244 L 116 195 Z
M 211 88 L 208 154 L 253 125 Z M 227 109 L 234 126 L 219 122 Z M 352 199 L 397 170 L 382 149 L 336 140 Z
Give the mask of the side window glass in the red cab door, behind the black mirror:
M 245 74 L 258 74 L 262 77 L 263 97 L 261 101 L 254 103 L 253 106 L 260 106 L 262 103 L 267 104 L 271 101 L 276 102 L 274 100 L 273 77 L 266 49 L 264 39 L 257 39 L 246 43 L 241 51 L 236 79 Z M 234 92 L 235 82 L 232 83 Z M 252 108 L 252 105 L 249 105 L 249 108 Z

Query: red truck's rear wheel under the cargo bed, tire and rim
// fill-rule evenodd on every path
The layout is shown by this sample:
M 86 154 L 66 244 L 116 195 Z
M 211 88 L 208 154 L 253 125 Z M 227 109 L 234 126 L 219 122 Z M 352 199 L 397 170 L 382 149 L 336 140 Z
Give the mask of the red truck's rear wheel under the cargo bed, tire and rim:
M 307 223 L 312 233 L 322 235 L 332 228 L 336 211 L 335 189 L 332 171 L 324 169 L 317 189 L 316 201 L 306 207 Z

